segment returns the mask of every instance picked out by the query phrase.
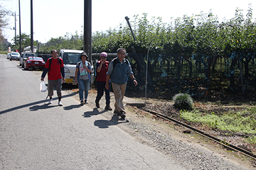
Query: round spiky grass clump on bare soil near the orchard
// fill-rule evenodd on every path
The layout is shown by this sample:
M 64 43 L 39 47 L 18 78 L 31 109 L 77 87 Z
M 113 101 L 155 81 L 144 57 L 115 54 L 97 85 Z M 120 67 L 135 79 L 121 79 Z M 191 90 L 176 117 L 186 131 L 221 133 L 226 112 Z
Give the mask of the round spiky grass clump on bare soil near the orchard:
M 180 110 L 191 110 L 193 107 L 193 99 L 189 94 L 175 94 L 173 97 L 174 106 Z

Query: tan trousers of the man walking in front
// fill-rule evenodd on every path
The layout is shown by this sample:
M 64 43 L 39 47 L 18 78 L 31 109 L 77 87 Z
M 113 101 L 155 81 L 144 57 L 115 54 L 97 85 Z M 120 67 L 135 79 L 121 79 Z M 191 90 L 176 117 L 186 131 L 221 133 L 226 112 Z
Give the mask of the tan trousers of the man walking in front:
M 115 110 L 116 111 L 125 111 L 124 110 L 124 104 L 123 104 L 123 99 L 124 99 L 124 93 L 126 89 L 126 83 L 124 85 L 118 85 L 116 83 L 111 83 L 112 89 L 115 94 Z

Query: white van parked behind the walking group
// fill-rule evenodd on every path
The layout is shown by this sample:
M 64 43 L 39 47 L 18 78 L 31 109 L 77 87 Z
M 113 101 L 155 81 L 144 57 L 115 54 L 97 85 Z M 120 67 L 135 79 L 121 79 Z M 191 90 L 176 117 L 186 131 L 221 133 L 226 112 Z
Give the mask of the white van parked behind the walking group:
M 82 52 L 83 50 L 62 50 L 62 49 L 60 50 L 58 57 L 63 59 L 63 63 L 64 63 L 64 71 L 65 71 L 64 83 L 75 83 L 76 64 L 77 62 L 80 61 L 79 57 Z M 93 70 L 93 65 L 92 65 L 92 70 Z M 93 78 L 93 75 L 92 75 L 92 78 Z

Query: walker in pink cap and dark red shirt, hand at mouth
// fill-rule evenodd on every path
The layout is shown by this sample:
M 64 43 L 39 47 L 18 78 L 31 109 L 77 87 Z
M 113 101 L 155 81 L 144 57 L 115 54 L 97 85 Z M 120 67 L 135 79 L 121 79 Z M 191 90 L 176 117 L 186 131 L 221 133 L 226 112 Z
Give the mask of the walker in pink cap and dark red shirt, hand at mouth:
M 97 85 L 97 97 L 95 100 L 96 107 L 99 108 L 100 104 L 99 101 L 104 94 L 106 95 L 106 107 L 105 110 L 112 110 L 109 106 L 110 104 L 110 95 L 109 89 L 105 88 L 106 85 L 106 73 L 108 72 L 109 62 L 106 61 L 108 54 L 106 52 L 100 53 L 100 60 L 97 62 L 96 71 L 97 71 L 97 78 L 96 78 L 96 85 Z

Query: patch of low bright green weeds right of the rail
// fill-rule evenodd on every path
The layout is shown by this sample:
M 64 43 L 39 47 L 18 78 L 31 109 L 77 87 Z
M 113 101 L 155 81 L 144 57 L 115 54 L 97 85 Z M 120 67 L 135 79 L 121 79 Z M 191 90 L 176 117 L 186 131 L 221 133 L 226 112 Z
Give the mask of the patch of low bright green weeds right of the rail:
M 228 131 L 231 134 L 243 132 L 251 134 L 252 138 L 248 139 L 256 143 L 256 109 L 245 108 L 236 112 L 223 112 L 222 114 L 202 113 L 200 110 L 180 111 L 180 117 L 193 123 L 201 123 L 208 127 Z

